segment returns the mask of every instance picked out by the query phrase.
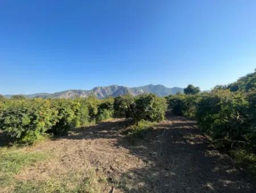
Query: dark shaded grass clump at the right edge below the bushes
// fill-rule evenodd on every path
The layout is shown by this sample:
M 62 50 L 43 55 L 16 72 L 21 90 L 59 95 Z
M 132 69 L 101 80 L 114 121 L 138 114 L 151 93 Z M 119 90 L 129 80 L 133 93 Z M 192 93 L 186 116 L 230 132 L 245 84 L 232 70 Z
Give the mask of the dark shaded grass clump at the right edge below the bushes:
M 231 151 L 236 162 L 243 168 L 249 171 L 250 174 L 256 176 L 256 155 L 246 152 L 243 149 L 236 149 Z

